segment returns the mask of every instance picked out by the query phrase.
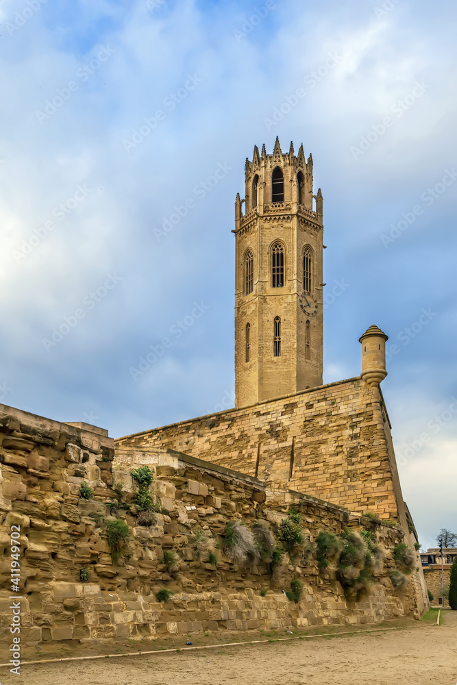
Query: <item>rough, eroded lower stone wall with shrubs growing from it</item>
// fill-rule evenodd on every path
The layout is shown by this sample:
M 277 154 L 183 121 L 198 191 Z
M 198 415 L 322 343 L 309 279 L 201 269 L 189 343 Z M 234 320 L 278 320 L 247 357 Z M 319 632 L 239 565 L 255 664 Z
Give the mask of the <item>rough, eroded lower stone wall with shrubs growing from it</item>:
M 28 644 L 375 623 L 420 614 L 415 574 L 402 592 L 388 575 L 393 547 L 404 539 L 399 528 L 173 451 L 124 447 L 113 462 L 106 432 L 87 428 L 0 406 L 2 639 L 10 639 L 12 621 L 12 526 L 20 530 L 21 636 Z M 151 491 L 159 510 L 148 525 L 138 523 L 130 475 L 144 464 L 154 471 Z M 80 495 L 84 481 L 91 499 Z M 278 539 L 291 507 L 301 514 L 305 545 L 294 558 L 284 553 L 275 577 L 260 560 L 245 568 L 225 556 L 228 521 L 261 521 Z M 116 518 L 127 525 L 129 540 L 115 565 L 106 525 Z M 358 601 L 345 597 L 334 569 L 319 571 L 313 547 L 319 531 L 341 534 L 347 525 L 369 527 L 387 554 L 369 594 Z M 166 552 L 173 552 L 173 563 Z M 283 593 L 294 577 L 304 584 L 298 604 Z M 161 588 L 173 593 L 169 601 L 156 599 Z

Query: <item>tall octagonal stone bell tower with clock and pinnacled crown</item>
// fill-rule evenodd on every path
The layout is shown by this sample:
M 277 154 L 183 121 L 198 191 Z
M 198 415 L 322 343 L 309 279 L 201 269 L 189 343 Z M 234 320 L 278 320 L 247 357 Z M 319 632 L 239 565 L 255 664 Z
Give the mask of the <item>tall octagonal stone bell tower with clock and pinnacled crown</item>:
M 303 145 L 246 160 L 236 196 L 236 407 L 322 384 L 322 194 Z M 314 199 L 314 207 L 313 207 Z M 243 213 L 243 204 L 245 205 Z

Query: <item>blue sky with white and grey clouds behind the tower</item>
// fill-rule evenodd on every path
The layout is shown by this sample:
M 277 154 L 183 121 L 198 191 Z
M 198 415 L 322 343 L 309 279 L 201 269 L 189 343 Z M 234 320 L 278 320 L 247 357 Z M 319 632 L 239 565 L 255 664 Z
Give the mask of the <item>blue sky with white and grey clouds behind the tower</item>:
M 113 437 L 233 406 L 245 158 L 303 142 L 324 382 L 388 334 L 404 499 L 457 532 L 455 35 L 449 0 L 2 0 L 0 402 Z

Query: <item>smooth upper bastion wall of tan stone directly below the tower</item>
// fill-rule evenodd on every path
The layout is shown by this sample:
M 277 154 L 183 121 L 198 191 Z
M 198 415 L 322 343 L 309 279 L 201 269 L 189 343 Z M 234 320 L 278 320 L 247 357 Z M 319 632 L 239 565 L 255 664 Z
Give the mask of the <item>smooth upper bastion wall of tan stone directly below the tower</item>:
M 176 449 L 406 526 L 382 395 L 360 378 L 125 436 L 116 445 Z

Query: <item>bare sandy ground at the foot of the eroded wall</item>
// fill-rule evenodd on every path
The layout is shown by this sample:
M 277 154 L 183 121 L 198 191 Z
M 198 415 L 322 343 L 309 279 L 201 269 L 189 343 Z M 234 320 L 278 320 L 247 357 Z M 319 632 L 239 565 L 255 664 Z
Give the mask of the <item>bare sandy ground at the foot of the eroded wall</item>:
M 457 612 L 444 625 L 0 671 L 0 685 L 455 685 Z

